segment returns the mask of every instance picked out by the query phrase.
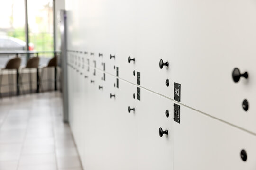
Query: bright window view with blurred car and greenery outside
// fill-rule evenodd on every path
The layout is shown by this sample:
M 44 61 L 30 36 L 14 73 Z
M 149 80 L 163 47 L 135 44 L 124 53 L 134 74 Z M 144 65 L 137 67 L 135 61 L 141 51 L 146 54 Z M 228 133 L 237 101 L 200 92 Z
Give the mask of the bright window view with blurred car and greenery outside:
M 7 0 L 0 5 L 0 50 L 54 51 L 53 0 L 27 0 L 28 47 L 26 43 L 25 1 Z M 40 54 L 39 65 L 45 65 L 53 53 Z M 1 54 L 0 68 L 13 55 Z M 21 66 L 26 54 L 20 56 Z

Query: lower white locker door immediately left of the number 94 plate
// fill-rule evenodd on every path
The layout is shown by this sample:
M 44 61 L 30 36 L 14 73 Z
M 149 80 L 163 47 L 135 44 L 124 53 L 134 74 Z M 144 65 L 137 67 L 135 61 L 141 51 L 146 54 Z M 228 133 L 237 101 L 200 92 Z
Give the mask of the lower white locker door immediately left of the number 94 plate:
M 173 102 L 144 89 L 140 95 L 134 113 L 138 128 L 137 170 L 173 170 Z M 168 135 L 160 137 L 159 128 L 168 130 Z

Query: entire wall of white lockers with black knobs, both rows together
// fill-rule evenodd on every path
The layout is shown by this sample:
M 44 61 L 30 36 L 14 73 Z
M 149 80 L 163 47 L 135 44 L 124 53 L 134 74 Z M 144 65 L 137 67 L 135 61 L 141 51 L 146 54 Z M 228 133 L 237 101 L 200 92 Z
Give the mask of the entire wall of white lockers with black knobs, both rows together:
M 84 169 L 256 169 L 256 1 L 66 0 L 66 7 L 70 125 Z M 169 66 L 160 69 L 161 59 Z M 235 83 L 234 68 L 249 78 Z M 160 127 L 168 135 L 160 137 Z

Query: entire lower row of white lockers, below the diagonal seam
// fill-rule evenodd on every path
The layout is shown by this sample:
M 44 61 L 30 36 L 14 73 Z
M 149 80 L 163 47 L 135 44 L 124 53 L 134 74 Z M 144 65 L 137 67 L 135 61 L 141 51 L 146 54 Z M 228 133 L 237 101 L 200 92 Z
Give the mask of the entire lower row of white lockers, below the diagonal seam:
M 84 169 L 256 169 L 255 135 L 94 69 L 68 64 L 69 122 Z

